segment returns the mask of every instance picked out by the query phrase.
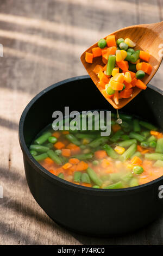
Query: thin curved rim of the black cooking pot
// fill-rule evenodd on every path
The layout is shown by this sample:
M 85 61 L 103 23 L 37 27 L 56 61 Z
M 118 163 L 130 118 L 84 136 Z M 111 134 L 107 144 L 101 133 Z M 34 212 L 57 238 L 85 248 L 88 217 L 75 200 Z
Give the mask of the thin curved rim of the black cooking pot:
M 158 178 L 155 179 L 153 181 L 147 182 L 146 184 L 142 184 L 139 186 L 135 186 L 135 187 L 127 187 L 127 188 L 118 188 L 118 189 L 112 189 L 112 190 L 104 190 L 103 188 L 91 188 L 91 187 L 85 187 L 82 185 L 77 185 L 74 184 L 70 181 L 66 181 L 64 179 L 60 179 L 58 176 L 53 175 L 52 173 L 48 172 L 48 170 L 46 170 L 45 168 L 43 168 L 41 166 L 41 164 L 39 164 L 34 157 L 30 154 L 29 149 L 27 148 L 25 139 L 24 139 L 24 134 L 23 134 L 23 128 L 24 128 L 24 120 L 26 119 L 26 115 L 29 111 L 29 109 L 32 107 L 32 105 L 45 93 L 48 93 L 51 89 L 54 89 L 55 87 L 58 87 L 62 84 L 66 84 L 72 81 L 77 81 L 77 80 L 82 80 L 82 79 L 87 79 L 90 78 L 89 75 L 84 75 L 84 76 L 76 76 L 76 77 L 72 77 L 72 78 L 68 78 L 66 80 L 57 82 L 55 84 L 52 84 L 52 86 L 49 86 L 45 89 L 43 89 L 40 93 L 36 94 L 33 99 L 27 104 L 26 108 L 24 108 L 21 118 L 20 118 L 20 122 L 19 122 L 19 129 L 18 129 L 18 138 L 19 138 L 19 142 L 20 142 L 20 146 L 22 149 L 22 152 L 24 154 L 26 154 L 27 156 L 27 160 L 30 164 L 32 164 L 32 166 L 34 167 L 34 169 L 39 172 L 41 175 L 43 175 L 46 179 L 52 181 L 52 182 L 59 182 L 59 184 L 61 186 L 67 186 L 67 188 L 69 188 L 70 190 L 75 190 L 75 191 L 83 191 L 85 193 L 89 192 L 91 194 L 95 194 L 97 196 L 101 196 L 101 194 L 103 193 L 104 196 L 116 196 L 117 193 L 121 192 L 121 193 L 126 193 L 126 192 L 135 192 L 135 191 L 140 191 L 140 190 L 145 190 L 145 189 L 149 189 L 149 187 L 155 185 L 157 182 L 163 180 L 163 175 Z M 91 80 L 91 78 L 90 78 Z M 151 84 L 148 84 L 148 87 L 151 88 L 152 90 L 155 90 L 157 93 L 163 95 L 163 90 L 156 88 L 155 86 L 152 86 Z

